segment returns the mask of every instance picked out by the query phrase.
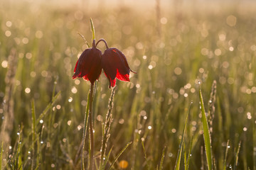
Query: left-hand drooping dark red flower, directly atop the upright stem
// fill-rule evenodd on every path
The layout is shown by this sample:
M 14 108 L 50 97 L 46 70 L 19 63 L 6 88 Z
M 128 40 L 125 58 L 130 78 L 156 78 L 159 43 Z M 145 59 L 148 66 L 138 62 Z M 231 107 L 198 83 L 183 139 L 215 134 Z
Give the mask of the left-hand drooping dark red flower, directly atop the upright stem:
M 102 71 L 102 52 L 96 48 L 95 40 L 92 42 L 92 48 L 86 49 L 82 52 L 78 62 L 75 64 L 73 79 L 76 77 L 83 77 L 94 84 L 96 79 L 99 79 Z

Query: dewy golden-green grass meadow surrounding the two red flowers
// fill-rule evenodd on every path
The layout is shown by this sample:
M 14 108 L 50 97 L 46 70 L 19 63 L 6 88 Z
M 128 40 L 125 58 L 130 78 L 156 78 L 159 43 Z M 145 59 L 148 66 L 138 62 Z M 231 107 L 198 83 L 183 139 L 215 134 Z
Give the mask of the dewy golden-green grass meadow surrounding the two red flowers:
M 0 4 L 0 169 L 82 169 L 90 82 L 72 76 L 92 18 L 96 40 L 137 72 L 117 80 L 113 106 L 103 72 L 97 81 L 95 169 L 112 106 L 105 169 L 117 156 L 112 169 L 209 169 L 208 131 L 212 169 L 256 170 L 256 4 Z

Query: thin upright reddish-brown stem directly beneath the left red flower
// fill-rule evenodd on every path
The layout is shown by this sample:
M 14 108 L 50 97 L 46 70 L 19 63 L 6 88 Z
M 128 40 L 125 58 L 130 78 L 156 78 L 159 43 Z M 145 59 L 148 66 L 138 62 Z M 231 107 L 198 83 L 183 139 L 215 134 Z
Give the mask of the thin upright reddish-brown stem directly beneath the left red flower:
M 89 127 L 90 127 L 90 170 L 93 170 L 93 152 L 94 152 L 94 142 L 93 142 L 93 125 L 92 125 L 92 101 L 93 101 L 93 86 L 90 85 L 90 106 L 89 106 Z

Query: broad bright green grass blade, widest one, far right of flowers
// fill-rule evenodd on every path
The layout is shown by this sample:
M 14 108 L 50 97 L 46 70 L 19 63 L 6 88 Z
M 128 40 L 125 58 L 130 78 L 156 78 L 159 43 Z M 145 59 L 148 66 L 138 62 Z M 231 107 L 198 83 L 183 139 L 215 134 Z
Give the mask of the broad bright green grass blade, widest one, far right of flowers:
M 211 154 L 211 145 L 210 145 L 210 132 L 208 128 L 206 110 L 203 105 L 203 96 L 202 96 L 200 87 L 199 87 L 199 98 L 200 98 L 200 108 L 201 108 L 201 114 L 202 114 L 201 120 L 203 123 L 203 139 L 204 139 L 205 148 L 206 148 L 206 161 L 208 164 L 208 170 L 212 170 L 213 163 L 212 163 L 212 154 Z

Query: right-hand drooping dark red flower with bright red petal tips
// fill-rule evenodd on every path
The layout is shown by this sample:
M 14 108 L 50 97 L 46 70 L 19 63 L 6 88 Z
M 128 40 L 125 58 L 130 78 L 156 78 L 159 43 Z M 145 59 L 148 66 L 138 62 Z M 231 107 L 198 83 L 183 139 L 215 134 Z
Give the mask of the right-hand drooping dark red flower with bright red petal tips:
M 129 81 L 129 72 L 133 72 L 129 68 L 124 54 L 114 47 L 107 48 L 102 55 L 102 68 L 110 81 L 109 87 L 114 87 L 116 78 L 121 81 Z

